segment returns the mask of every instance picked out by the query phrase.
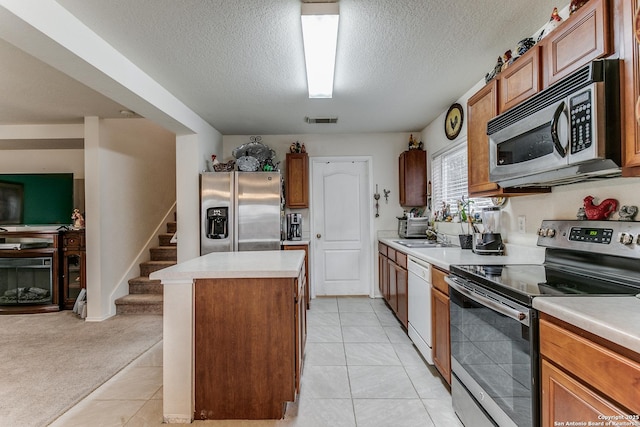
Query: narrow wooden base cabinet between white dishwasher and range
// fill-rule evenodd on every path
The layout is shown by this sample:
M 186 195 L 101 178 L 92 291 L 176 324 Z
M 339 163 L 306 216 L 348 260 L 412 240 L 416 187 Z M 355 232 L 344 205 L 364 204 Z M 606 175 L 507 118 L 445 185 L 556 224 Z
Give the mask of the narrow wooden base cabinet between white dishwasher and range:
M 433 364 L 451 384 L 451 332 L 449 330 L 449 286 L 444 281 L 448 272 L 431 269 L 431 341 Z

